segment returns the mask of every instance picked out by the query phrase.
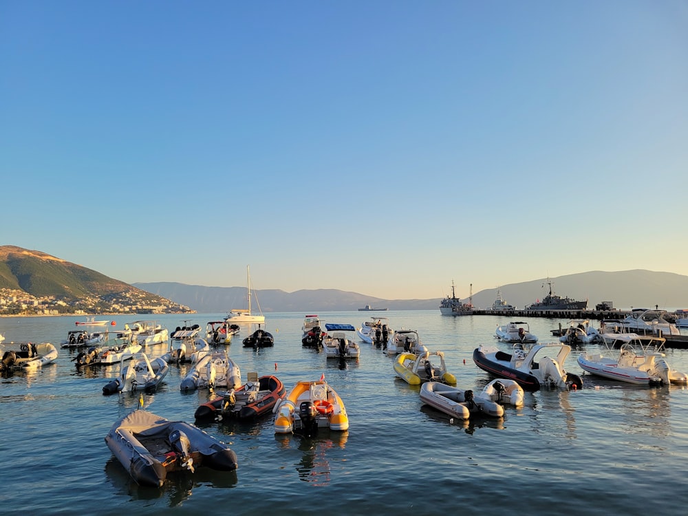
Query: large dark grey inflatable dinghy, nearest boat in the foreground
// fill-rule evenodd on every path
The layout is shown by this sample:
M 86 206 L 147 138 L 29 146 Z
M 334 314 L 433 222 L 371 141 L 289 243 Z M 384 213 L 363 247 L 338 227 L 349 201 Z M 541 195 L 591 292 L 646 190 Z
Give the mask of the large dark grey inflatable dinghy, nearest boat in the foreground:
M 142 486 L 162 487 L 171 471 L 237 469 L 237 455 L 224 442 L 193 424 L 166 420 L 145 410 L 135 410 L 118 420 L 105 436 L 105 443 Z

